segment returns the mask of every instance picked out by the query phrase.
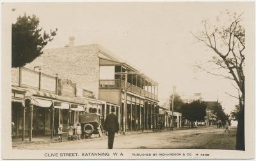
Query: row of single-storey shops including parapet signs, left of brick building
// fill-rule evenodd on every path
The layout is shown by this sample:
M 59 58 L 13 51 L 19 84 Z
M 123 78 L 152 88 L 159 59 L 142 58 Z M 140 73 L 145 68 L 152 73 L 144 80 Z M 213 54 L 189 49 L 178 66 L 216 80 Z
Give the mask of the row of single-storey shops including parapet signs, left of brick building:
M 28 79 L 38 76 L 37 74 L 41 77 L 37 80 L 41 81 L 41 88 L 31 81 L 32 78 Z M 45 81 L 45 77 L 48 80 Z M 76 84 L 69 80 L 60 81 L 58 77 L 26 68 L 13 69 L 12 82 L 12 138 L 21 137 L 22 141 L 28 138 L 32 141 L 36 135 L 53 138 L 58 133 L 60 124 L 63 125 L 65 133 L 69 124 L 79 122 L 80 114 L 97 112 L 105 117 L 113 106 L 101 100 L 78 95 L 74 86 Z M 47 89 L 42 89 L 43 87 Z

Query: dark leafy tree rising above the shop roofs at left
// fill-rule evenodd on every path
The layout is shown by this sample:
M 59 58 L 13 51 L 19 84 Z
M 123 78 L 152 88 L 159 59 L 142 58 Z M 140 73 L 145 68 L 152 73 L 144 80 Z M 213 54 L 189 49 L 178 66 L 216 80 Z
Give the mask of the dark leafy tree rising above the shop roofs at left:
M 12 67 L 24 66 L 40 56 L 45 45 L 56 36 L 57 30 L 51 30 L 50 34 L 44 31 L 41 35 L 38 17 L 19 16 L 17 22 L 12 24 Z

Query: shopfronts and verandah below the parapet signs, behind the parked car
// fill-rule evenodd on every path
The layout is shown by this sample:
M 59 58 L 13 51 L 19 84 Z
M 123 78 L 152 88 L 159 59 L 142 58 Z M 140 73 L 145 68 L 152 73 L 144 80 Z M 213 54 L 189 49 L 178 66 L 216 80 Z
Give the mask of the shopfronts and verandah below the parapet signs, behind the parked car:
M 12 86 L 12 136 L 32 140 L 36 135 L 58 133 L 59 125 L 67 132 L 68 124 L 79 122 L 79 115 L 85 112 L 97 112 L 103 118 L 110 113 L 111 107 L 119 107 L 92 98 L 59 96 L 35 89 Z M 104 119 L 102 120 L 104 121 Z

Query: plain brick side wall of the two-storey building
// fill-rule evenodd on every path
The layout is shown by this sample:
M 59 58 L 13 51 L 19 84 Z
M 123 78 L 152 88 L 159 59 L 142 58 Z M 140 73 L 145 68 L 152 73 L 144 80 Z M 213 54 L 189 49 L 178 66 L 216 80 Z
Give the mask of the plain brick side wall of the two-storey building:
M 26 65 L 33 69 L 42 66 L 42 72 L 63 79 L 71 79 L 80 88 L 93 91 L 99 98 L 99 47 L 83 45 L 44 50 L 42 56 Z

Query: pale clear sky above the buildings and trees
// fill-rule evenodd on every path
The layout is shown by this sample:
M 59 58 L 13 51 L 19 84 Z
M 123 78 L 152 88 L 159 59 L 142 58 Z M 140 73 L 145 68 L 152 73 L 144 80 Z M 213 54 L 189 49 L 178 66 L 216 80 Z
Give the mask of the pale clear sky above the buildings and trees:
M 221 102 L 225 112 L 238 104 L 231 82 L 195 68 L 211 58 L 212 52 L 196 42 L 191 31 L 200 22 L 214 19 L 220 11 L 239 13 L 246 5 L 237 3 L 13 3 L 10 19 L 35 14 L 45 31 L 58 28 L 49 48 L 64 47 L 68 36 L 75 45 L 98 43 L 139 68 L 159 83 L 159 100 L 177 92 L 202 93 L 205 101 Z M 12 11 L 15 8 L 15 11 Z M 160 102 L 160 104 L 163 102 Z

